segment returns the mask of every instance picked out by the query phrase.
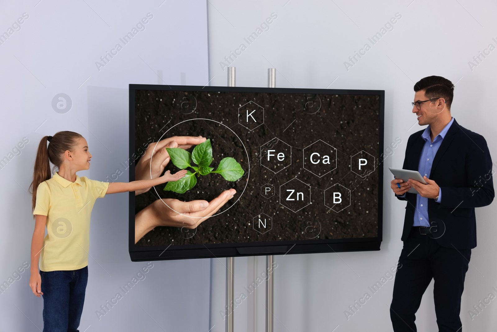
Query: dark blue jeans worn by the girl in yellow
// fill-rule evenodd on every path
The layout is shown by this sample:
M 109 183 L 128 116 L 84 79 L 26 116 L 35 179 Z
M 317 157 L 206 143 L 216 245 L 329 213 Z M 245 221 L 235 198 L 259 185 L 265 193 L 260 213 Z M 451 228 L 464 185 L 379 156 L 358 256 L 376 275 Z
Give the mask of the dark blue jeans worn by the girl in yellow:
M 41 271 L 43 332 L 79 332 L 88 266 L 78 270 Z

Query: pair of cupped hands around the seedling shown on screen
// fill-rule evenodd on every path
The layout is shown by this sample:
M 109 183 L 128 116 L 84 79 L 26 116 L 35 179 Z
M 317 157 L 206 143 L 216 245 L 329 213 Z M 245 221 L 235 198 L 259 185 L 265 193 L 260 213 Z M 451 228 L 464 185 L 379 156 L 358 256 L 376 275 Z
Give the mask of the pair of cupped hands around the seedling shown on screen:
M 155 179 L 161 176 L 170 161 L 166 148 L 188 149 L 206 140 L 202 136 L 172 136 L 153 142 L 135 167 L 136 180 Z M 153 153 L 153 156 L 152 156 Z M 166 174 L 165 174 L 166 175 Z M 150 188 L 135 192 L 143 194 Z M 182 202 L 176 199 L 158 199 L 135 216 L 135 243 L 156 226 L 185 227 L 193 229 L 215 214 L 235 195 L 235 189 L 223 191 L 212 201 Z

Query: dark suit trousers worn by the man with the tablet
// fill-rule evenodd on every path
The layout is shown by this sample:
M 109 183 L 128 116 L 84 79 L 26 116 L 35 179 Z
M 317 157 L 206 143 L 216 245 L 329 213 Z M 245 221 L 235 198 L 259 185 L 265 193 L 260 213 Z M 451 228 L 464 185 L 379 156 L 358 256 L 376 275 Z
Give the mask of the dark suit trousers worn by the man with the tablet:
M 442 247 L 434 237 L 413 227 L 404 241 L 390 305 L 395 332 L 417 331 L 415 313 L 431 278 L 438 331 L 462 332 L 459 313 L 471 249 Z

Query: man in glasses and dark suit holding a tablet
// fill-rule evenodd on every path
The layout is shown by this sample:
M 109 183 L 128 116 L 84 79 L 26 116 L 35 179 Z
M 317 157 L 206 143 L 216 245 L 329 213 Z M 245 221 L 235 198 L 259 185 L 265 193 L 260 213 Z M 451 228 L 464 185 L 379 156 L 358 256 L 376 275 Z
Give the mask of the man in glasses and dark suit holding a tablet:
M 495 196 L 487 141 L 451 116 L 453 90 L 440 76 L 414 85 L 413 113 L 419 125 L 428 126 L 409 137 L 403 169 L 419 171 L 427 184 L 391 182 L 396 197 L 407 201 L 390 306 L 395 332 L 416 331 L 415 313 L 431 278 L 439 332 L 462 332 L 461 295 L 476 247 L 475 208 Z M 419 194 L 408 193 L 411 188 Z

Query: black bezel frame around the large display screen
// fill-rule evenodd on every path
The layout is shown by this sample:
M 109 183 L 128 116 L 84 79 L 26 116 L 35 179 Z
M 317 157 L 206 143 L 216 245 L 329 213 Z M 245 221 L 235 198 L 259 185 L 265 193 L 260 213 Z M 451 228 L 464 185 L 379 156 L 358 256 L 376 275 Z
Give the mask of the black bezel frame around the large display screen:
M 295 89 L 295 88 L 250 88 L 250 87 L 211 87 L 183 85 L 129 85 L 129 155 L 135 153 L 135 93 L 137 90 L 193 91 L 193 92 L 245 92 L 245 93 L 287 93 L 287 94 L 336 94 L 379 96 L 379 148 L 378 166 L 378 236 L 368 238 L 323 239 L 299 241 L 268 241 L 243 243 L 215 243 L 181 245 L 178 248 L 166 246 L 137 247 L 135 238 L 135 192 L 129 192 L 129 254 L 131 261 L 241 257 L 264 254 L 302 254 L 339 251 L 380 250 L 383 239 L 383 158 L 384 148 L 384 90 L 342 90 L 342 89 Z M 135 179 L 135 163 L 129 167 L 129 181 Z M 175 246 L 174 246 L 175 247 Z

